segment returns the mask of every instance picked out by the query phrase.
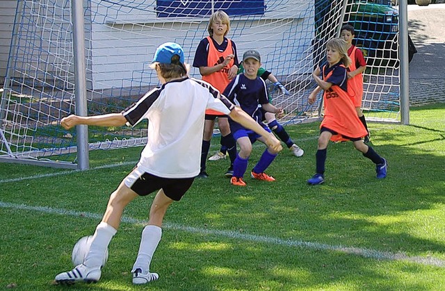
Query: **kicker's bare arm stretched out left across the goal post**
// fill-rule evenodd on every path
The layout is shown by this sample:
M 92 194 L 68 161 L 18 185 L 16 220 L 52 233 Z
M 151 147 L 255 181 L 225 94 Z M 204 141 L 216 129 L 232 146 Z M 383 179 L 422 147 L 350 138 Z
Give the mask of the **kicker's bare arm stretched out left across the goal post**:
M 122 126 L 127 123 L 122 113 L 110 113 L 95 116 L 77 116 L 70 115 L 60 120 L 60 125 L 65 129 L 70 129 L 79 124 L 95 126 Z

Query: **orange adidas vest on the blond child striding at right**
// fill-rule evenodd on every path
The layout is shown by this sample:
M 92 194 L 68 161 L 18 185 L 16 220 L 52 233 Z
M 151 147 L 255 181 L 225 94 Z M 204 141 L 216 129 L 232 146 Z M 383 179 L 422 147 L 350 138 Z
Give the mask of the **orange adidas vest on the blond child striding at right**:
M 332 72 L 325 74 L 326 66 L 323 67 L 323 80 L 327 80 L 332 75 Z M 344 67 L 344 65 L 341 65 L 341 67 Z M 325 90 L 323 102 L 325 116 L 320 127 L 324 126 L 349 138 L 363 138 L 368 134 L 357 116 L 351 93 L 343 91 L 338 85 L 332 85 L 331 88 Z M 332 135 L 331 140 L 339 141 L 343 139 L 339 139 L 338 135 Z

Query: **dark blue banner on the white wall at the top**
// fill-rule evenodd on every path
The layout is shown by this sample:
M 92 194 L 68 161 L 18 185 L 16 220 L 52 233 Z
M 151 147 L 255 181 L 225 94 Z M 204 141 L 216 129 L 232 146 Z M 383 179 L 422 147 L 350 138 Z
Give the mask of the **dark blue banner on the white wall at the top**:
M 156 0 L 157 17 L 203 17 L 213 10 L 228 15 L 264 15 L 264 0 Z

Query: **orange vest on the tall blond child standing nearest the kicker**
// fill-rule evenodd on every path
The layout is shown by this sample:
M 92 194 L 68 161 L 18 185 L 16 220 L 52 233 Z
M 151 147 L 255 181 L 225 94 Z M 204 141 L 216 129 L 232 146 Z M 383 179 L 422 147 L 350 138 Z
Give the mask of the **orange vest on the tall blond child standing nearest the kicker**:
M 211 39 L 211 37 L 208 36 L 207 40 L 209 40 L 209 52 L 207 54 L 207 65 L 209 67 L 213 67 L 215 65 L 223 63 L 227 56 L 235 54 L 232 49 L 232 40 L 227 39 L 227 48 L 225 49 L 225 51 L 218 51 L 218 49 L 216 49 L 215 45 L 213 44 L 213 40 Z M 229 73 L 229 69 L 234 65 L 234 62 L 235 61 L 233 59 L 230 60 L 229 64 L 223 67 L 223 69 L 220 69 L 218 72 L 214 72 L 207 76 L 202 76 L 202 80 L 210 83 L 213 87 L 218 89 L 221 94 L 223 94 L 225 88 L 230 83 L 227 74 Z M 206 114 L 223 115 L 223 113 L 211 109 L 207 109 Z

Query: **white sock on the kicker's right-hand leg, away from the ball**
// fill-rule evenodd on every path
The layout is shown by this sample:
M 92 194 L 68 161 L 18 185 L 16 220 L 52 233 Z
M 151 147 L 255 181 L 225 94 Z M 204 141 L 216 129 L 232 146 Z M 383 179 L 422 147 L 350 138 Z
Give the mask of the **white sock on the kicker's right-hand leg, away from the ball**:
M 162 228 L 155 225 L 147 225 L 142 231 L 142 237 L 140 238 L 139 252 L 136 262 L 134 262 L 133 270 L 140 268 L 145 271 L 149 271 L 150 263 L 152 263 L 152 257 L 156 247 L 158 247 L 161 241 Z

